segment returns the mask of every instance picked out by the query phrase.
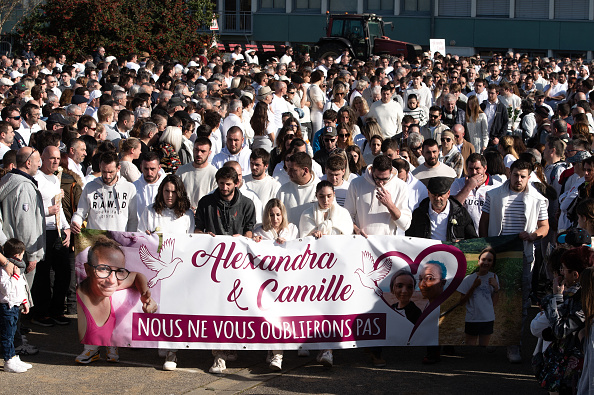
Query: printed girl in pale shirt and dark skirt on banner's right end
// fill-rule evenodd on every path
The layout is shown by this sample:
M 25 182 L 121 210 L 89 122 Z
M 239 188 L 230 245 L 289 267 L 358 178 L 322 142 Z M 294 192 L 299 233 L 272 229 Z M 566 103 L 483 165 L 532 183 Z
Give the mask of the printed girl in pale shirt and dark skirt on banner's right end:
M 495 309 L 499 299 L 499 279 L 491 270 L 495 267 L 495 251 L 485 248 L 478 257 L 478 271 L 462 281 L 458 292 L 460 304 L 466 304 L 466 345 L 486 347 L 493 334 Z

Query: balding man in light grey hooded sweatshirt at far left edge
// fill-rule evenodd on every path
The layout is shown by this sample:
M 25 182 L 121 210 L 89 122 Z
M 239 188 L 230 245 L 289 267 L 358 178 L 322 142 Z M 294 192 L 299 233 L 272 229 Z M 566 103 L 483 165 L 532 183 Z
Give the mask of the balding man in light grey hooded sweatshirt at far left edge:
M 45 209 L 35 174 L 41 165 L 39 151 L 31 147 L 17 152 L 17 167 L 0 180 L 2 232 L 0 242 L 15 238 L 25 243 L 25 277 L 33 286 L 37 262 L 45 256 Z

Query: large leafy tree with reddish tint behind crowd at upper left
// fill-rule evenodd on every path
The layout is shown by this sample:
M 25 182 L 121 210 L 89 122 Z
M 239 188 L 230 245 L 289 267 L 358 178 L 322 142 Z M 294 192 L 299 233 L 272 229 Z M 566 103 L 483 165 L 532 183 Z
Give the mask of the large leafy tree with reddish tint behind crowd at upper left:
M 151 56 L 186 60 L 208 47 L 210 36 L 198 28 L 212 15 L 210 0 L 47 0 L 19 25 L 19 34 L 35 42 L 36 52 L 79 56 L 99 46 L 122 56 L 148 52 Z

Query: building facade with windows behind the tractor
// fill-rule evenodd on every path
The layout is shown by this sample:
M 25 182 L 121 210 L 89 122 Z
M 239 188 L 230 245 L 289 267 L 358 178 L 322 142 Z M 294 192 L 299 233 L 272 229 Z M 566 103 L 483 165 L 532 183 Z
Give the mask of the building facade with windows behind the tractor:
M 508 50 L 592 59 L 594 0 L 218 0 L 221 39 L 315 43 L 326 13 L 375 13 L 393 39 L 459 55 Z

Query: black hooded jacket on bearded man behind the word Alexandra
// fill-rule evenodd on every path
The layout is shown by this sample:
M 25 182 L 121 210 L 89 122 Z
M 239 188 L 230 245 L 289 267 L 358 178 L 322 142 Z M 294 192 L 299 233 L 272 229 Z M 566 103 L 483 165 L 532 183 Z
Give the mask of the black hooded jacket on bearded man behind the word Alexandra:
M 196 230 L 212 232 L 215 235 L 233 236 L 251 232 L 256 225 L 254 202 L 235 188 L 231 201 L 221 198 L 219 189 L 203 196 L 196 209 Z

